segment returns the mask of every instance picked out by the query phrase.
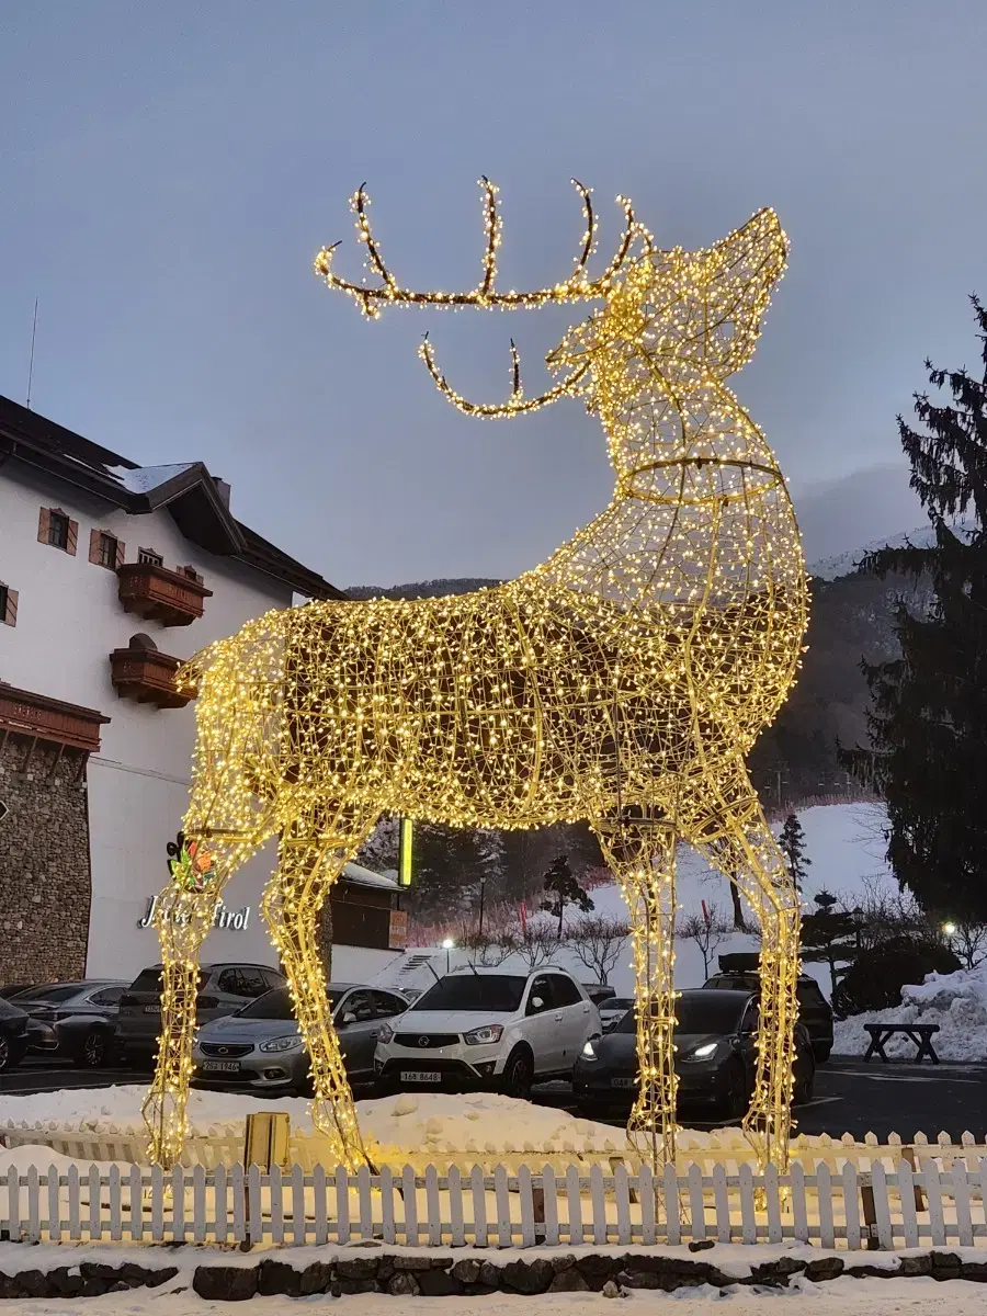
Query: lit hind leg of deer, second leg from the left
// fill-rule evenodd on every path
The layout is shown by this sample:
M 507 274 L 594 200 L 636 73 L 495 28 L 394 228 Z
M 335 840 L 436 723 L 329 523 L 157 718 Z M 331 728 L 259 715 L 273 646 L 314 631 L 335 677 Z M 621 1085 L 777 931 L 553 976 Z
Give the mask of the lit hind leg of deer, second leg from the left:
M 312 1066 L 312 1124 L 329 1138 L 334 1162 L 347 1170 L 368 1162 L 333 1028 L 318 949 L 318 913 L 333 882 L 375 821 L 357 825 L 342 811 L 296 820 L 282 836 L 278 869 L 263 896 L 263 915 L 280 951 Z

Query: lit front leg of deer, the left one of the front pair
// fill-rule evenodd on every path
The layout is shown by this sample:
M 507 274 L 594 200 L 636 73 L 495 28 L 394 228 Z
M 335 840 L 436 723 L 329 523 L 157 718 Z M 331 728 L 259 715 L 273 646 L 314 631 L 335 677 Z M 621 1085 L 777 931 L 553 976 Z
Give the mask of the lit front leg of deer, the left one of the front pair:
M 628 1136 L 653 1170 L 675 1163 L 675 842 L 667 825 L 625 822 L 600 846 L 630 912 L 638 1092 Z

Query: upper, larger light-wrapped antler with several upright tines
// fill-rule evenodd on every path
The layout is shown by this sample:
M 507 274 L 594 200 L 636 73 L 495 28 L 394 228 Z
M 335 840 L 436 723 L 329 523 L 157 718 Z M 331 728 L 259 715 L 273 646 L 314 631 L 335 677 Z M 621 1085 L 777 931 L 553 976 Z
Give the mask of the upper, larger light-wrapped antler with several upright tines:
M 380 287 L 371 288 L 365 283 L 351 283 L 349 279 L 342 279 L 337 274 L 333 274 L 333 253 L 340 245 L 338 242 L 333 243 L 333 246 L 322 247 L 318 253 L 315 262 L 316 272 L 325 279 L 328 287 L 338 288 L 341 292 L 346 292 L 359 301 L 363 313 L 371 317 L 380 313 L 382 305 L 499 307 L 508 311 L 544 307 L 549 303 L 587 301 L 603 297 L 613 276 L 626 261 L 634 237 L 640 236 L 650 245 L 647 230 L 634 218 L 630 201 L 619 196 L 617 204 L 624 209 L 625 228 L 617 251 L 599 279 L 588 279 L 586 276 L 586 263 L 596 246 L 596 217 L 590 199 L 590 188 L 583 187 L 582 183 L 572 179 L 572 186 L 583 197 L 583 209 L 586 213 L 583 247 L 576 258 L 575 270 L 567 279 L 553 287 L 537 288 L 533 292 L 516 292 L 515 290 L 497 292 L 494 284 L 497 274 L 497 247 L 500 246 L 503 232 L 497 203 L 499 190 L 488 178 L 482 178 L 479 186 L 483 188 L 483 228 L 487 236 L 487 246 L 483 253 L 483 278 L 479 286 L 471 292 L 416 292 L 411 288 L 401 288 L 384 265 L 380 247 L 371 232 L 368 217 L 370 197 L 365 187 L 361 187 L 353 196 L 350 205 L 357 216 L 357 237 L 367 249 L 370 266 L 380 276 Z

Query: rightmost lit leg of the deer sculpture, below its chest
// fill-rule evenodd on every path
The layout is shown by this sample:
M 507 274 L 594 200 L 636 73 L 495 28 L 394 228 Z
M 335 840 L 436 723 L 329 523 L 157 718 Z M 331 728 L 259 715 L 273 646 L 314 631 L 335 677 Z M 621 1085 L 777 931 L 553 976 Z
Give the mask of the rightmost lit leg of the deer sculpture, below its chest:
M 744 1130 L 757 1152 L 758 1163 L 784 1171 L 788 1169 L 799 1013 L 799 892 L 759 804 L 746 820 L 734 817 L 725 834 L 694 844 L 737 886 L 761 924 L 757 1071 Z

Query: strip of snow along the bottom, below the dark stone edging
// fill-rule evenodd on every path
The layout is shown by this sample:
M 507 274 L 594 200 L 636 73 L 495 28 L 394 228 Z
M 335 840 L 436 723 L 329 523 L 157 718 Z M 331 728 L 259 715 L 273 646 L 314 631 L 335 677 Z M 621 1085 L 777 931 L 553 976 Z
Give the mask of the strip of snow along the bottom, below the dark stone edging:
M 915 1279 L 833 1279 L 824 1284 L 796 1277 L 791 1288 L 775 1290 L 762 1284 L 730 1288 L 680 1288 L 674 1294 L 634 1290 L 628 1298 L 634 1312 L 713 1312 L 724 1304 L 737 1316 L 925 1316 L 938 1303 L 948 1303 L 950 1316 L 983 1316 L 987 1292 L 983 1284 L 953 1279 L 937 1283 L 932 1278 Z M 542 1294 L 525 1298 L 491 1294 L 482 1298 L 390 1298 L 384 1294 L 357 1294 L 351 1298 L 254 1298 L 265 1316 L 304 1316 L 321 1307 L 337 1308 L 347 1316 L 432 1316 L 447 1311 L 455 1316 L 601 1316 L 609 1312 L 600 1294 Z M 229 1303 L 204 1302 L 187 1287 L 179 1275 L 164 1288 L 132 1290 L 105 1298 L 62 1298 L 58 1300 L 11 1299 L 3 1304 L 4 1316 L 217 1316 L 229 1312 Z

